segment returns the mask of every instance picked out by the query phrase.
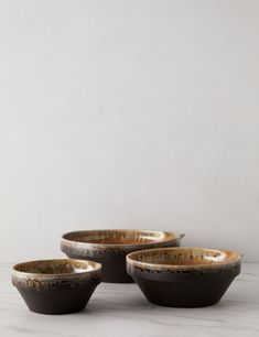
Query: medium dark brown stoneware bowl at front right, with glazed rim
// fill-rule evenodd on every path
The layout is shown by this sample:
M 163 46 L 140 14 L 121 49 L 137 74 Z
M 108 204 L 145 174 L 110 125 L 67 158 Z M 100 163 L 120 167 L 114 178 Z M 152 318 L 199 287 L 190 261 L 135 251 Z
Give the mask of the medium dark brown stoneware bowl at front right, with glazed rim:
M 144 296 L 163 306 L 217 303 L 240 273 L 240 254 L 202 248 L 162 248 L 127 256 L 128 273 Z

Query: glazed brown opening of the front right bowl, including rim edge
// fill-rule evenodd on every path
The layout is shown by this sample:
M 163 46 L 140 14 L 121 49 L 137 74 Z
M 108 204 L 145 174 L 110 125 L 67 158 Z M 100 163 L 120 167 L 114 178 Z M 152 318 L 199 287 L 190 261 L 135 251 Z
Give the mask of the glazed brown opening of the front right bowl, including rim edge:
M 203 267 L 225 264 L 238 261 L 240 254 L 233 251 L 219 251 L 203 248 L 159 248 L 128 254 L 132 263 L 158 267 Z

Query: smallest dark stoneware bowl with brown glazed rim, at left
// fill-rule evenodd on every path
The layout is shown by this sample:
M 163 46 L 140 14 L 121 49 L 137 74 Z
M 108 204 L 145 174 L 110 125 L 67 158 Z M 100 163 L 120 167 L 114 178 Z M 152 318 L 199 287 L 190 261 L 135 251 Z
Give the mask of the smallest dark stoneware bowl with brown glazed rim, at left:
M 41 260 L 15 264 L 12 284 L 30 311 L 69 314 L 85 308 L 100 283 L 101 265 L 80 260 Z

